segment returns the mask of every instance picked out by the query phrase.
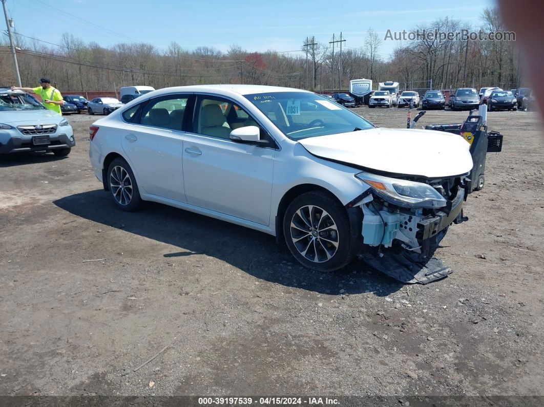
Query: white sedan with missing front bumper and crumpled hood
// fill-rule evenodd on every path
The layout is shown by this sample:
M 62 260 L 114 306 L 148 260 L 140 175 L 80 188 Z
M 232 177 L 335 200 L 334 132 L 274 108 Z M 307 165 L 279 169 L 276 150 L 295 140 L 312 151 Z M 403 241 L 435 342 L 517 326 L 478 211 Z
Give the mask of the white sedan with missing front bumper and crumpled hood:
M 462 137 L 378 128 L 309 91 L 169 87 L 100 118 L 89 136 L 119 209 L 154 201 L 263 231 L 313 270 L 380 246 L 423 259 L 465 220 L 473 164 Z

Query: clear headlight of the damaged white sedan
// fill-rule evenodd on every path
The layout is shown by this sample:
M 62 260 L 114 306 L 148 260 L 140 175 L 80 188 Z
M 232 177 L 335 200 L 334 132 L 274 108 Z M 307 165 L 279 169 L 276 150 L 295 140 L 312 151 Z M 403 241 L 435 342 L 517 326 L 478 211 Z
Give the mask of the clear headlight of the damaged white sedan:
M 432 186 L 404 179 L 382 177 L 368 172 L 355 175 L 372 187 L 372 192 L 384 201 L 405 208 L 442 208 L 446 199 Z

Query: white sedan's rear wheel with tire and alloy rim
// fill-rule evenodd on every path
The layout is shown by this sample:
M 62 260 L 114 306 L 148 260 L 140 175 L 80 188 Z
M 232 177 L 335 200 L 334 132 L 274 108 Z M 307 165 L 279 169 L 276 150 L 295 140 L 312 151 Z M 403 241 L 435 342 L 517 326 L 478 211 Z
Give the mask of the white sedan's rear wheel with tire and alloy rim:
M 108 186 L 113 202 L 126 212 L 138 210 L 142 204 L 136 178 L 128 162 L 114 159 L 108 167 Z

